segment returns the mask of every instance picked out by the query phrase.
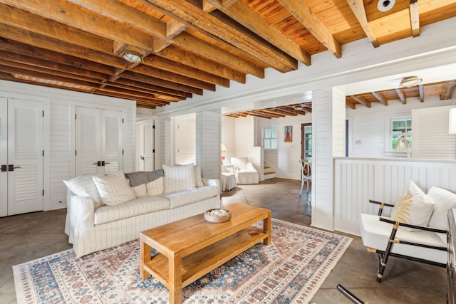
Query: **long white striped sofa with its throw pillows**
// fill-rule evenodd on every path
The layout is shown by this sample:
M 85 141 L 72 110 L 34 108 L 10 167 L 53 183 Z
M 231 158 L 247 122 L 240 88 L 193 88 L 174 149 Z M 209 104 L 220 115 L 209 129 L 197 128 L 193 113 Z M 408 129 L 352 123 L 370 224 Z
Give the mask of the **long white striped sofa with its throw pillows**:
M 163 167 L 162 173 L 147 172 L 155 179 L 134 187 L 122 172 L 64 181 L 65 233 L 76 256 L 138 239 L 140 231 L 221 206 L 219 180 L 201 179 L 199 166 Z

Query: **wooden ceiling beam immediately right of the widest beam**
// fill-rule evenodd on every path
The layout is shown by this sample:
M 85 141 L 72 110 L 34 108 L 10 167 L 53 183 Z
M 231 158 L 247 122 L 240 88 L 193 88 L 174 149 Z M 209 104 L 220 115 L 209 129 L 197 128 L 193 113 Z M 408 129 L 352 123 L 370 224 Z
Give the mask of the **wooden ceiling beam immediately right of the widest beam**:
M 227 4 L 225 1 L 220 0 L 204 0 L 210 2 L 219 11 L 229 16 L 231 19 L 237 21 L 242 26 L 249 28 L 250 31 L 256 33 L 264 40 L 273 44 L 281 49 L 289 56 L 295 58 L 297 61 L 305 65 L 311 64 L 311 56 L 304 51 L 298 44 L 294 43 L 286 37 L 281 31 L 274 26 L 270 26 L 263 18 L 255 13 L 249 6 L 245 5 L 242 1 Z

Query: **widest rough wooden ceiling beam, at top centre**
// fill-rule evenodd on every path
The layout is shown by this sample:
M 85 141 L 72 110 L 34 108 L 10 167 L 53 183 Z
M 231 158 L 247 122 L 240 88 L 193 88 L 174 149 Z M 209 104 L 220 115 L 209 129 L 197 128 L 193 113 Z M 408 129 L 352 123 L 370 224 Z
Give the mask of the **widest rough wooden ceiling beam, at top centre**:
M 232 20 L 224 20 L 225 15 L 217 14 L 217 11 L 207 14 L 202 7 L 195 6 L 189 1 L 148 0 L 148 2 L 163 14 L 185 22 L 205 35 L 209 33 L 213 38 L 238 48 L 247 56 L 253 56 L 282 73 L 297 68 L 296 61 L 285 55 L 279 48 L 265 43 L 247 28 L 239 28 Z

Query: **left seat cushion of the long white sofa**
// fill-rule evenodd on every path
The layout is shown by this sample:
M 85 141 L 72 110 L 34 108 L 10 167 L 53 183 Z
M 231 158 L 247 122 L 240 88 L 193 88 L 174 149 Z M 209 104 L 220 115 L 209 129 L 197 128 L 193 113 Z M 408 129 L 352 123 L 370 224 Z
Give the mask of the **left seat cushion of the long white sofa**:
M 115 206 L 101 206 L 95 210 L 94 222 L 100 225 L 163 209 L 170 209 L 170 201 L 165 197 L 141 196 Z

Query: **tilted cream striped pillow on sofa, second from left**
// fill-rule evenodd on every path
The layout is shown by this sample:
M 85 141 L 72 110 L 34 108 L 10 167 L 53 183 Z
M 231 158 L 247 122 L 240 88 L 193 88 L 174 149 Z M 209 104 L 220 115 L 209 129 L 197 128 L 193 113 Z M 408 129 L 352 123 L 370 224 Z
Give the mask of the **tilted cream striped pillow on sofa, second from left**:
M 123 172 L 113 173 L 104 177 L 93 177 L 103 203 L 115 206 L 135 199 L 133 188 L 128 185 Z

